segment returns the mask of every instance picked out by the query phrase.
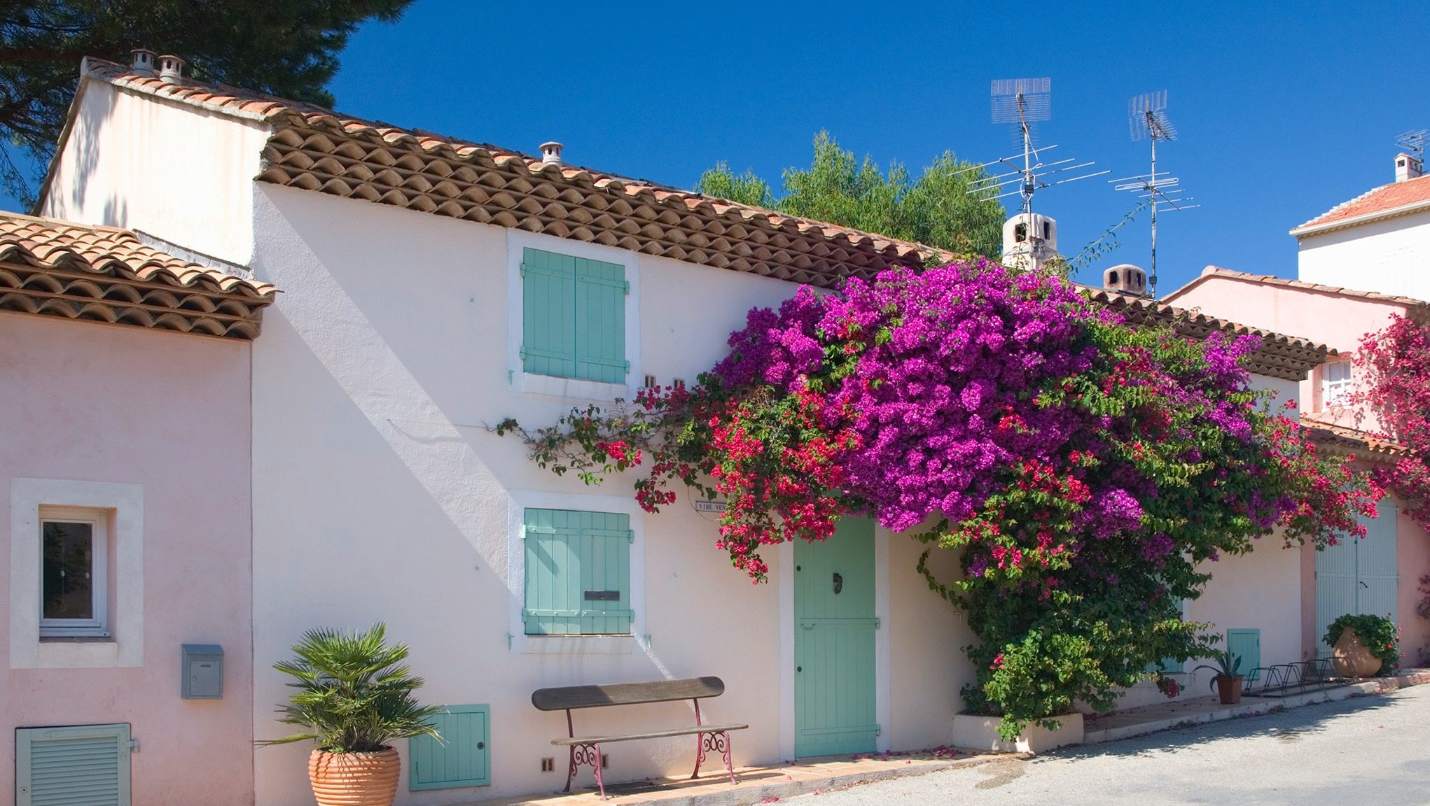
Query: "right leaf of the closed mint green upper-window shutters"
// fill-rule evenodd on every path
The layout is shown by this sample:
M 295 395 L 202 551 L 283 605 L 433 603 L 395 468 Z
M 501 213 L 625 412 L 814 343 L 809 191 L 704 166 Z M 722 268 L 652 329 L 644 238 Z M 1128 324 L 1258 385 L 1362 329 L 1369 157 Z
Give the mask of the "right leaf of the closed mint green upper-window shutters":
M 576 377 L 625 383 L 625 266 L 576 259 Z

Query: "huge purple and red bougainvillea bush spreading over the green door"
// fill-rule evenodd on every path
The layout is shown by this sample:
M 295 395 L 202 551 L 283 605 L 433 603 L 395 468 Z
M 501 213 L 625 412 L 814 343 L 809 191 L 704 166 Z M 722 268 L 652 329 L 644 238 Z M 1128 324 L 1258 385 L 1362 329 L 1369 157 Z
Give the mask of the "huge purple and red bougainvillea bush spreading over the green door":
M 718 544 L 756 582 L 764 546 L 847 514 L 914 534 L 978 637 L 968 707 L 1010 736 L 1211 652 L 1180 616 L 1204 562 L 1278 526 L 1363 536 L 1379 497 L 1250 389 L 1254 337 L 1134 329 L 1054 276 L 894 269 L 754 310 L 729 344 L 689 390 L 522 432 L 533 457 L 591 482 L 648 453 L 641 503 L 724 496 Z M 962 574 L 930 573 L 934 550 Z

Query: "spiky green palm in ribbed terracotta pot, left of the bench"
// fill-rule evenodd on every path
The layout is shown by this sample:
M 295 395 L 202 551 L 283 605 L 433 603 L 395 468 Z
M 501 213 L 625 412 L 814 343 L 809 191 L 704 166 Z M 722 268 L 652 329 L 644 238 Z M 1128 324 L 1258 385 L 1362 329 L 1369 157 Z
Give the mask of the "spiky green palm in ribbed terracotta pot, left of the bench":
M 419 705 L 403 663 L 406 645 L 386 645 L 386 625 L 362 632 L 309 630 L 293 645 L 295 660 L 273 667 L 293 677 L 279 722 L 300 730 L 259 745 L 316 743 L 307 777 L 319 806 L 392 806 L 402 763 L 389 742 L 438 736 L 429 719 L 442 709 Z

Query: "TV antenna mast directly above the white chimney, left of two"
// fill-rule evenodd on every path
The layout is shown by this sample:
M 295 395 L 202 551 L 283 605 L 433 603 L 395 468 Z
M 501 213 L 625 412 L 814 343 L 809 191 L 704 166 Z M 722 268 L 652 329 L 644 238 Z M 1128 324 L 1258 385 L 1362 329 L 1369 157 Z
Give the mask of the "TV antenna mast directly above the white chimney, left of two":
M 970 196 L 980 194 L 990 199 L 1021 196 L 1022 212 L 1032 213 L 1032 194 L 1035 191 L 1055 184 L 1067 184 L 1080 179 L 1111 173 L 1100 170 L 1071 176 L 1075 171 L 1093 167 L 1093 163 L 1080 163 L 1071 157 L 1042 161 L 1042 151 L 1057 149 L 1055 144 L 1038 147 L 1034 130 L 1034 123 L 1052 117 L 1051 84 L 1050 79 L 998 79 L 992 83 L 990 93 L 992 97 L 992 121 L 1017 124 L 1015 137 L 1022 146 L 1022 164 L 1018 164 L 1020 154 L 1011 154 L 954 171 L 955 176 L 971 170 L 988 171 L 988 176 L 981 176 L 968 183 L 967 193 Z M 1004 173 L 992 173 L 1000 169 L 1007 170 Z

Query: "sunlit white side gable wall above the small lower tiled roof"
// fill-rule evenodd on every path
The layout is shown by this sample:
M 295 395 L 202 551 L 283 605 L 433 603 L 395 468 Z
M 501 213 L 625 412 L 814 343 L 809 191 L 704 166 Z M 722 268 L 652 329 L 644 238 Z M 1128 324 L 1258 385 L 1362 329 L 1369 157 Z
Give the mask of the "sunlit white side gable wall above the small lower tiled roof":
M 247 264 L 266 140 L 265 124 L 86 80 L 39 212 Z

